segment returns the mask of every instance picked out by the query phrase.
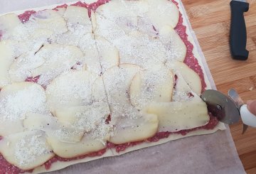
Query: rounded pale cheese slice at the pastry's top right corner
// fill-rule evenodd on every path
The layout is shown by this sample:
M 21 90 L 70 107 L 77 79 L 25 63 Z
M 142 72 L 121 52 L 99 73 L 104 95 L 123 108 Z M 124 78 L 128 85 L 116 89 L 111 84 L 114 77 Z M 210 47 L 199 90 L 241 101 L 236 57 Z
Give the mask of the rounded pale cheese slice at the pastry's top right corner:
M 146 16 L 151 20 L 157 31 L 164 26 L 176 27 L 179 11 L 173 2 L 168 0 L 146 1 L 149 3 L 149 11 L 146 13 Z

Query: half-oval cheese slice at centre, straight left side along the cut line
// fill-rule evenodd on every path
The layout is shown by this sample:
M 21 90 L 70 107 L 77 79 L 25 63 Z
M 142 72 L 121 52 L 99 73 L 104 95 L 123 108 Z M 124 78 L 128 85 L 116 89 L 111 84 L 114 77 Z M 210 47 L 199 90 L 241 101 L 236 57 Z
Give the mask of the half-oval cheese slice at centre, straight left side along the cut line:
M 117 48 L 101 36 L 95 36 L 95 40 L 102 72 L 104 73 L 110 67 L 119 65 L 119 53 Z

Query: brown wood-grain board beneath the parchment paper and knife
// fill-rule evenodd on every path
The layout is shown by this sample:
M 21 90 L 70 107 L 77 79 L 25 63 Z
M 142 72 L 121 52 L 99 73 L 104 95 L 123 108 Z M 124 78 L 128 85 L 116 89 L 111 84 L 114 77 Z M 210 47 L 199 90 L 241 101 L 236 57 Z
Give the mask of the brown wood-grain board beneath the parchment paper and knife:
M 248 1 L 245 13 L 247 25 L 247 61 L 233 60 L 228 45 L 230 1 L 182 0 L 192 28 L 196 33 L 215 84 L 221 92 L 235 88 L 246 102 L 256 99 L 256 0 Z M 247 173 L 256 173 L 256 129 L 242 133 L 242 123 L 230 126 L 238 154 Z

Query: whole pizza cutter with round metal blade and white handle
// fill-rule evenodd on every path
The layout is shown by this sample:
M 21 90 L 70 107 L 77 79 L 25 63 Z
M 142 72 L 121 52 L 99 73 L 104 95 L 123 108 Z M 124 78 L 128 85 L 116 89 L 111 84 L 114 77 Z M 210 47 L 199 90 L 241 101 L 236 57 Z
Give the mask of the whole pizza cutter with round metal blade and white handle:
M 242 134 L 248 126 L 256 127 L 256 116 L 247 109 L 247 104 L 242 102 L 235 89 L 228 91 L 228 96 L 213 89 L 208 89 L 201 94 L 208 110 L 225 124 L 235 124 L 240 118 L 243 123 Z

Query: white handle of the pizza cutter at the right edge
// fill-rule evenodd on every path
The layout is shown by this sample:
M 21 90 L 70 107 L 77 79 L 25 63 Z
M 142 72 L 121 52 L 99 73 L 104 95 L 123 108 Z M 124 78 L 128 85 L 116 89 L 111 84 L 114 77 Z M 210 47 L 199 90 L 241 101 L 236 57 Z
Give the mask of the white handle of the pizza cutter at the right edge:
M 240 108 L 242 122 L 248 126 L 256 127 L 256 116 L 247 109 L 247 104 Z

